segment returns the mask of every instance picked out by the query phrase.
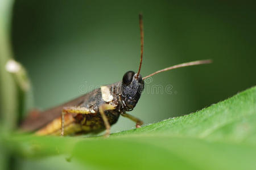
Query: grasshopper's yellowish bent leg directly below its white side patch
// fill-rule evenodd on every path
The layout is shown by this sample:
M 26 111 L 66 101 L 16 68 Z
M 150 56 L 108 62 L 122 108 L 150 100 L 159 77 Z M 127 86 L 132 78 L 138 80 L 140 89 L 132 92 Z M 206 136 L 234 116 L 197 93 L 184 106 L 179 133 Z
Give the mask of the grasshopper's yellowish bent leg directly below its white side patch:
M 110 134 L 110 124 L 108 121 L 108 117 L 106 117 L 105 111 L 113 110 L 113 109 L 115 109 L 115 107 L 111 104 L 102 104 L 99 107 L 102 120 L 104 121 L 104 125 L 106 127 L 105 137 L 109 137 L 109 134 Z

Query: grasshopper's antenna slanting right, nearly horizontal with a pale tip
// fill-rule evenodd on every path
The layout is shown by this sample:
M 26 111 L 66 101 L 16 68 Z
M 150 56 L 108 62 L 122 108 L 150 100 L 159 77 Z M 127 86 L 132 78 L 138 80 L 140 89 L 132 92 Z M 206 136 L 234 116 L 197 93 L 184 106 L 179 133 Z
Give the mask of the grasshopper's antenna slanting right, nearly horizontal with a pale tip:
M 212 60 L 211 59 L 205 59 L 205 60 L 199 60 L 199 61 L 191 61 L 191 62 L 186 62 L 186 63 L 181 63 L 179 65 L 174 65 L 174 66 L 171 66 L 171 67 L 167 67 L 166 69 L 162 69 L 162 70 L 158 70 L 156 71 L 155 73 L 152 73 L 150 75 L 147 75 L 145 77 L 143 77 L 142 79 L 146 79 L 152 75 L 155 75 L 155 74 L 158 74 L 158 73 L 161 73 L 161 72 L 164 72 L 164 71 L 168 71 L 168 70 L 173 70 L 173 69 L 177 69 L 177 68 L 180 68 L 180 67 L 187 67 L 187 66 L 195 66 L 195 65 L 204 65 L 204 64 L 207 64 L 207 63 L 212 63 Z

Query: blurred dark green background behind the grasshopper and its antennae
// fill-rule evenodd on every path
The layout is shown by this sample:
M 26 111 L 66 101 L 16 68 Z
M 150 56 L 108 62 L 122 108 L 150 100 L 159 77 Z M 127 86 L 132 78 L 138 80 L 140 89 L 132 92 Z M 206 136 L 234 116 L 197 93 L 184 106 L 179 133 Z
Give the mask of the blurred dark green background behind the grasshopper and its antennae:
M 172 94 L 144 92 L 134 116 L 146 124 L 195 112 L 256 84 L 256 11 L 249 2 L 32 1 L 14 3 L 15 59 L 31 78 L 35 107 L 81 95 L 137 71 L 138 14 L 144 16 L 143 76 L 177 63 L 213 59 L 153 76 Z M 88 92 L 88 91 L 87 91 Z M 120 118 L 112 132 L 134 123 Z

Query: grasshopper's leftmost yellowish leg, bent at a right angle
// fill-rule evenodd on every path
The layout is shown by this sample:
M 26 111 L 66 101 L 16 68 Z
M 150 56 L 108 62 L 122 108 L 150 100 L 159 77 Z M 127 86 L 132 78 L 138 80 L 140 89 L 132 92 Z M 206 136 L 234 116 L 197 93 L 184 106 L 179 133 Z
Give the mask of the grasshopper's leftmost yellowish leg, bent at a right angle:
M 63 110 L 61 112 L 61 136 L 64 136 L 64 123 L 65 123 L 64 116 L 67 113 L 70 113 L 70 114 L 93 114 L 93 113 L 95 113 L 95 111 L 93 109 L 88 109 L 85 107 L 65 107 L 65 108 L 63 108 Z

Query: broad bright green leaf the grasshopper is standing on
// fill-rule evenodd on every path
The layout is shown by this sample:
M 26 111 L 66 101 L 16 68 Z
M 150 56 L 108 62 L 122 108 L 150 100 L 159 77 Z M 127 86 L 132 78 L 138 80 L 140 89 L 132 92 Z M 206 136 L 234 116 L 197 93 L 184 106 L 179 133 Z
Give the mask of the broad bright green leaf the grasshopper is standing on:
M 108 139 L 13 134 L 5 142 L 27 159 L 64 154 L 90 169 L 255 169 L 255 99 L 253 87 L 199 112 Z

